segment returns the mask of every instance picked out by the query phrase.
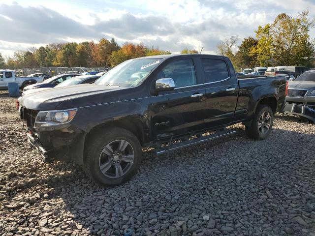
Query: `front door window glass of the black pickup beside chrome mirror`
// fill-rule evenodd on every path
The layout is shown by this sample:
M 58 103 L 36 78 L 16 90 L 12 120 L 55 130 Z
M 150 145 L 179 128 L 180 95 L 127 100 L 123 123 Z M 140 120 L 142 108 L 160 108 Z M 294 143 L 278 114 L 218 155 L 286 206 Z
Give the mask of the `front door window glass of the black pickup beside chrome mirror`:
M 172 78 L 175 88 L 196 85 L 196 74 L 192 59 L 176 60 L 168 63 L 158 73 L 158 79 Z

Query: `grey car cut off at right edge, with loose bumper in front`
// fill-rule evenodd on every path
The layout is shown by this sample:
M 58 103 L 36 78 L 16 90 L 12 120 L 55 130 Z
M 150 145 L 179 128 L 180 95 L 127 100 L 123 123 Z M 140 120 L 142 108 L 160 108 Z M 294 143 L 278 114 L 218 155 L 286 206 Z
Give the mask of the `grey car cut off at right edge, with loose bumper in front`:
M 308 118 L 315 123 L 315 71 L 305 71 L 289 83 L 284 113 Z

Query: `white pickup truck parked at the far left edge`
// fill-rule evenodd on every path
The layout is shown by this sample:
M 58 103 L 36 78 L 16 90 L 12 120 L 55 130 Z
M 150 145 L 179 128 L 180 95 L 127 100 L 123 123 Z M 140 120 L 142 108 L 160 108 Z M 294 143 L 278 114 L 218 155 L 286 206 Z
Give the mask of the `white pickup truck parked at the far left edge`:
M 8 83 L 17 82 L 20 89 L 42 82 L 44 77 L 19 77 L 13 70 L 0 70 L 0 89 L 8 89 Z

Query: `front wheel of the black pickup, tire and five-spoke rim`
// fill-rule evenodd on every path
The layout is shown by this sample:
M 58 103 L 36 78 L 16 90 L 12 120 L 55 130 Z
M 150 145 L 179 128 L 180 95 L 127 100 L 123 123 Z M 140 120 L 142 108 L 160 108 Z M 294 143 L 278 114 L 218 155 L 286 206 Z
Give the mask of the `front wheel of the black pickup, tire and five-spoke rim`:
M 120 185 L 136 174 L 142 157 L 137 137 L 126 129 L 109 128 L 87 144 L 86 172 L 103 186 Z

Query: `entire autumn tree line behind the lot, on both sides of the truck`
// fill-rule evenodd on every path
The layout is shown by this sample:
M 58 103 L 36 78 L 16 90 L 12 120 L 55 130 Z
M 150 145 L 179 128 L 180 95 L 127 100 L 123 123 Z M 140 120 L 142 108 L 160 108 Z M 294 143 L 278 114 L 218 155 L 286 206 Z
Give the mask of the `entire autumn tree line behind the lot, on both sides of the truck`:
M 258 26 L 255 37 L 244 38 L 236 46 L 239 36 L 233 35 L 217 45 L 217 54 L 231 59 L 236 70 L 255 66 L 300 65 L 311 67 L 315 56 L 315 41 L 309 31 L 314 19 L 303 11 L 297 17 L 279 14 L 272 24 Z M 185 48 L 181 54 L 199 53 Z M 118 45 L 117 41 L 101 38 L 97 43 L 52 43 L 45 47 L 16 51 L 4 61 L 0 54 L 0 68 L 23 67 L 113 67 L 127 60 L 144 56 L 171 54 L 170 51 L 130 42 Z

